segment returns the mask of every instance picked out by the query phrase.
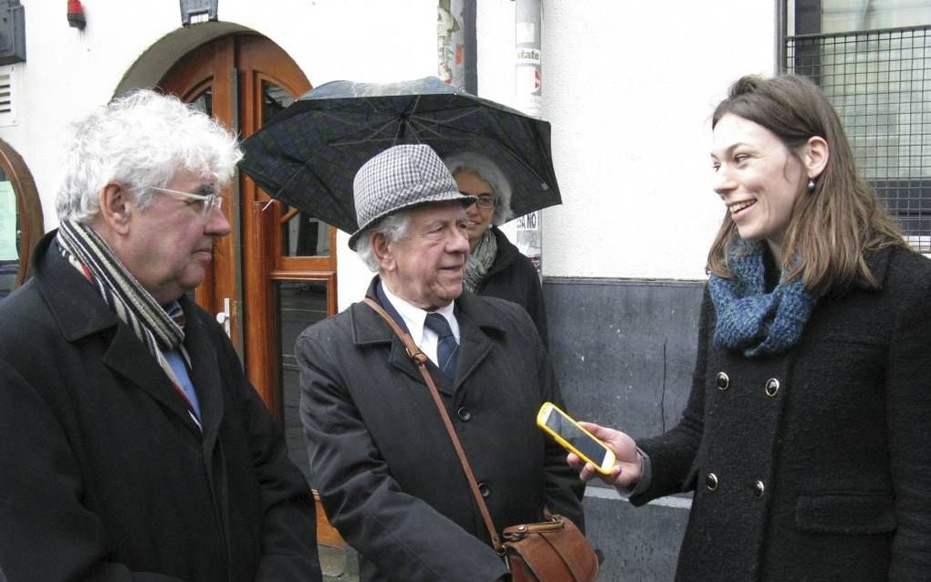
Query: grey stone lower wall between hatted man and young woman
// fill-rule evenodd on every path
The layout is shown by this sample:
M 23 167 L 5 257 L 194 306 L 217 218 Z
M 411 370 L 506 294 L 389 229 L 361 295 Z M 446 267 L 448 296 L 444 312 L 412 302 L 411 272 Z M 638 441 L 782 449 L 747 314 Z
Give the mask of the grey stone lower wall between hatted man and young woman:
M 695 364 L 701 281 L 546 278 L 550 353 L 569 412 L 635 439 L 678 422 Z M 586 493 L 599 580 L 671 580 L 690 495 L 634 508 L 614 488 Z

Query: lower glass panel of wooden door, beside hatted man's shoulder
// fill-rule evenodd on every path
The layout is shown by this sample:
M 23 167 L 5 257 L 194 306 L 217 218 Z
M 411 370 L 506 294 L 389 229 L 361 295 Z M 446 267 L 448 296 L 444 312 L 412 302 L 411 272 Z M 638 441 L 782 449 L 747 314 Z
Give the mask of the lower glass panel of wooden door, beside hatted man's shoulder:
M 294 342 L 312 324 L 327 318 L 327 281 L 277 281 L 277 319 L 281 345 L 281 405 L 288 455 L 309 475 L 307 447 L 301 428 L 301 386 Z

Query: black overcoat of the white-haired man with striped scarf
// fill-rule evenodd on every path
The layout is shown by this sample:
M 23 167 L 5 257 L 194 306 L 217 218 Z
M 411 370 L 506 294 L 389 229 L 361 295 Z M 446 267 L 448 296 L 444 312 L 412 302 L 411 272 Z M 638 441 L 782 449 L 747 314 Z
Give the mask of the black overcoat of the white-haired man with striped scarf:
M 53 238 L 0 303 L 7 578 L 320 580 L 306 480 L 216 322 L 182 298 L 201 432 Z

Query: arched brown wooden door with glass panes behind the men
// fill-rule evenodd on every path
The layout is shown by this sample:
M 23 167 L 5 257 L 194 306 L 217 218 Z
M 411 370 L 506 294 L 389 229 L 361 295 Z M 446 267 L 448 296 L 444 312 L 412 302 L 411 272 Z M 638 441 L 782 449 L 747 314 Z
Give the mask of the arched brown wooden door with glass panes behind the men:
M 288 54 L 257 34 L 229 34 L 197 47 L 158 85 L 243 139 L 310 89 Z M 306 472 L 293 345 L 307 325 L 336 312 L 336 231 L 271 199 L 245 175 L 225 194 L 233 234 L 217 243 L 196 300 L 228 325 L 250 381 Z

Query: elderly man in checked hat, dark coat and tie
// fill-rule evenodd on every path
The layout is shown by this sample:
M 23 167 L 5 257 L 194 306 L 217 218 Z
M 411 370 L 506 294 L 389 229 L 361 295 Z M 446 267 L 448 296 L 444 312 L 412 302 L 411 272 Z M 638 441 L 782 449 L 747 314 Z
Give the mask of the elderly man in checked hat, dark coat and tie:
M 544 508 L 582 527 L 582 485 L 534 426 L 560 391 L 533 321 L 519 305 L 463 293 L 475 198 L 426 145 L 373 157 L 354 195 L 349 246 L 378 273 L 367 296 L 429 358 L 499 534 L 541 521 Z M 506 579 L 437 406 L 387 322 L 351 305 L 305 330 L 296 354 L 313 484 L 358 550 L 361 579 Z

